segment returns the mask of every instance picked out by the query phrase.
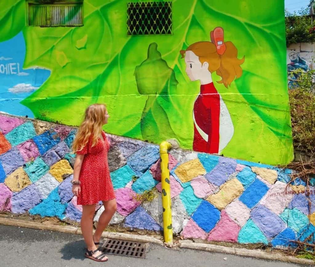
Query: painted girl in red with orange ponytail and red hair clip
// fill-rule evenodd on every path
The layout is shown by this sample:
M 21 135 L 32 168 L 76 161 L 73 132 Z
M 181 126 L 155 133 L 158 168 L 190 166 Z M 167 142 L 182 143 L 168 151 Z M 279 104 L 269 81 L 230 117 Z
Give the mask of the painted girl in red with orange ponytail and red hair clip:
M 219 153 L 232 139 L 234 126 L 226 104 L 215 88 L 211 73 L 221 76 L 226 88 L 241 77 L 244 59 L 238 59 L 238 51 L 232 42 L 224 42 L 224 31 L 216 27 L 210 32 L 211 42 L 196 42 L 186 50 L 186 73 L 191 81 L 200 81 L 200 93 L 195 100 L 192 118 L 194 121 L 193 150 Z

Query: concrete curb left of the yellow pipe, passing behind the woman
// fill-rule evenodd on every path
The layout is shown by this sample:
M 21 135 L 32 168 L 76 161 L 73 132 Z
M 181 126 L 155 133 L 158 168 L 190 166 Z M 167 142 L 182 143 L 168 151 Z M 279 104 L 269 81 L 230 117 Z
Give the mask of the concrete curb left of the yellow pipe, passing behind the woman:
M 1 218 L 1 217 L 0 217 L 0 224 L 82 235 L 82 231 L 79 227 L 67 226 L 67 225 L 66 226 L 45 225 L 38 222 L 7 219 L 7 218 Z M 142 243 L 155 243 L 155 244 L 163 245 L 163 241 L 157 238 L 154 238 L 152 236 L 139 236 L 139 235 L 131 235 L 131 234 L 115 233 L 115 232 L 103 232 L 102 237 L 126 240 L 126 241 L 136 241 L 136 242 L 142 242 Z

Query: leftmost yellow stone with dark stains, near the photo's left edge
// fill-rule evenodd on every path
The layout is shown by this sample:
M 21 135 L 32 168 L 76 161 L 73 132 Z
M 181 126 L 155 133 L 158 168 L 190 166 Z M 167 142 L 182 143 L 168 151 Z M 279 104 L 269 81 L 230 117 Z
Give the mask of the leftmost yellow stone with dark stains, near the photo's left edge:
M 32 182 L 22 167 L 15 170 L 5 178 L 4 183 L 13 192 L 20 192 L 26 186 L 29 186 Z

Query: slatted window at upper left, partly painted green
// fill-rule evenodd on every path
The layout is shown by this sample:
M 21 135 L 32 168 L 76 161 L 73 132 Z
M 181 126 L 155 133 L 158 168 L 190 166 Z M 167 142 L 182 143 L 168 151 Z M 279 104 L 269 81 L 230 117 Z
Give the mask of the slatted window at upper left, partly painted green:
M 27 0 L 27 25 L 83 26 L 83 0 Z

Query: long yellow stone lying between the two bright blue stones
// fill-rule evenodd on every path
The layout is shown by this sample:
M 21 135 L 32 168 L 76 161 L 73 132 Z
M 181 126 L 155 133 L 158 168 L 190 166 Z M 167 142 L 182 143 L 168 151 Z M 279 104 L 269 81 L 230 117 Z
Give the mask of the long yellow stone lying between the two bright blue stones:
M 225 209 L 235 198 L 244 191 L 244 187 L 238 179 L 232 179 L 220 186 L 219 192 L 211 195 L 207 200 L 218 209 Z

